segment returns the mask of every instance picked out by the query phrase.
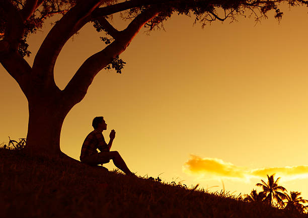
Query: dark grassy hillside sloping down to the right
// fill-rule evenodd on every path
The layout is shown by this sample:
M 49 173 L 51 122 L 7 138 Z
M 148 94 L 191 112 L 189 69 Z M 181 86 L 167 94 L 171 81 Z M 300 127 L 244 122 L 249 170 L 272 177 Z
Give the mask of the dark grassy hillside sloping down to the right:
M 0 149 L 0 217 L 305 217 L 236 198 Z

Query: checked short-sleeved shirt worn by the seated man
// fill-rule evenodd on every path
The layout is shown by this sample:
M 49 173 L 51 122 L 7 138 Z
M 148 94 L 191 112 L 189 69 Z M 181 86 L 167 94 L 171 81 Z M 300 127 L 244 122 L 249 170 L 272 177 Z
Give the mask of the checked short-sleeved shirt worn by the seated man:
M 102 151 L 109 151 L 108 145 L 105 142 L 104 136 L 99 131 L 92 131 L 86 137 L 84 144 L 82 146 L 82 151 L 80 155 L 80 159 L 82 160 L 86 156 L 93 155 L 98 153 L 97 149 Z

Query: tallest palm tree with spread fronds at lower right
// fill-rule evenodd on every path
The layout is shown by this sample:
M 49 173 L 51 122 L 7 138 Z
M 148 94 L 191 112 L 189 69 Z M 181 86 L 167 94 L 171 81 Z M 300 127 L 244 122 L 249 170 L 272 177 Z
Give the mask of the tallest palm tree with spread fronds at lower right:
M 283 186 L 278 185 L 278 180 L 280 177 L 274 181 L 274 175 L 272 174 L 271 176 L 267 175 L 267 183 L 265 183 L 262 179 L 262 183 L 257 183 L 257 186 L 262 187 L 263 191 L 260 193 L 263 193 L 265 195 L 265 198 L 263 201 L 267 202 L 268 204 L 274 206 L 274 200 L 277 201 L 279 206 L 284 206 L 283 199 L 286 198 L 286 195 L 280 191 L 286 191 L 286 189 Z

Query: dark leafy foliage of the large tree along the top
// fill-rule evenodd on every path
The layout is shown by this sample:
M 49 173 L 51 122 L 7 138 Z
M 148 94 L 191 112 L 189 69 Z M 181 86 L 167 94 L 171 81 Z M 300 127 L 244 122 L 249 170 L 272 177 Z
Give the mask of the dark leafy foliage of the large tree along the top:
M 22 11 L 27 7 L 27 3 L 31 1 L 26 0 L 11 0 L 10 2 L 18 11 Z M 23 37 L 19 40 L 18 51 L 22 57 L 29 56 L 31 52 L 28 50 L 27 37 L 30 34 L 36 33 L 36 31 L 42 29 L 44 22 L 54 15 L 65 15 L 72 7 L 74 7 L 78 0 L 39 0 L 37 2 L 38 7 L 30 15 L 30 17 L 24 22 Z M 117 0 L 104 0 L 101 2 L 99 9 L 111 9 L 112 7 L 122 7 L 121 10 L 115 12 L 121 12 L 123 19 L 131 20 L 137 15 L 145 11 L 146 9 L 156 6 L 161 8 L 161 12 L 158 16 L 145 24 L 148 31 L 164 28 L 164 22 L 171 17 L 173 13 L 178 13 L 190 17 L 194 17 L 195 22 L 200 22 L 205 25 L 212 21 L 224 21 L 227 18 L 230 21 L 236 20 L 237 16 L 254 16 L 256 21 L 260 21 L 261 18 L 267 18 L 266 14 L 269 11 L 274 11 L 274 17 L 278 20 L 282 17 L 282 12 L 279 9 L 279 5 L 282 2 L 287 2 L 290 6 L 305 4 L 306 1 L 294 1 L 294 0 L 278 0 L 278 1 L 260 1 L 260 0 L 130 0 L 130 1 L 117 1 Z M 112 19 L 112 14 L 109 13 L 103 16 L 105 19 Z M 8 14 L 0 7 L 0 39 L 4 39 L 6 32 L 8 32 L 7 23 Z M 108 31 L 103 28 L 102 19 L 99 16 L 92 16 L 89 21 L 93 23 L 93 26 L 98 32 Z M 107 34 L 108 35 L 108 34 Z M 112 41 L 112 37 L 101 37 L 101 39 L 109 44 Z M 125 62 L 119 58 L 116 58 L 112 67 L 114 67 L 118 73 L 121 72 L 121 68 Z M 106 68 L 110 68 L 110 65 Z

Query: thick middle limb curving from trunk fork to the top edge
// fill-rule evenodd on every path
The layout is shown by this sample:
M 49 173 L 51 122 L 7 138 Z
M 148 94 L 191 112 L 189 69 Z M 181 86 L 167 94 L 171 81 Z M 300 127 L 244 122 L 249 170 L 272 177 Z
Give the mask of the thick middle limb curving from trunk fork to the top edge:
M 46 36 L 33 63 L 33 74 L 39 76 L 46 87 L 55 85 L 53 68 L 62 47 L 73 34 L 90 21 L 89 15 L 100 6 L 102 1 L 79 1 L 53 26 Z

